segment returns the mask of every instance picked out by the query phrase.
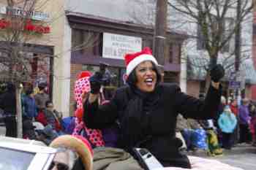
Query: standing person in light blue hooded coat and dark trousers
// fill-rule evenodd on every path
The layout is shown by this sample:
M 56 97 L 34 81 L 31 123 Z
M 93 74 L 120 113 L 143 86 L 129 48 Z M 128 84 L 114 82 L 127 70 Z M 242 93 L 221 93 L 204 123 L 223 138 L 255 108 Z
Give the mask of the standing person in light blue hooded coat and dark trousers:
M 232 147 L 232 134 L 236 128 L 237 120 L 229 106 L 226 106 L 222 115 L 219 116 L 218 124 L 222 131 L 222 147 L 230 150 Z

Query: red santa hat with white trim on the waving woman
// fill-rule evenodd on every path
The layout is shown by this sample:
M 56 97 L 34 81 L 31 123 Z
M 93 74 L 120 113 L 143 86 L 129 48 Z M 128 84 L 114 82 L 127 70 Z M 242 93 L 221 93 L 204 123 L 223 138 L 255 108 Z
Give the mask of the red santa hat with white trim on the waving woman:
M 158 65 L 156 58 L 152 55 L 152 51 L 149 47 L 145 47 L 142 51 L 138 53 L 130 53 L 124 56 L 125 64 L 127 66 L 127 76 L 138 66 L 140 63 L 144 61 L 152 61 L 156 65 Z

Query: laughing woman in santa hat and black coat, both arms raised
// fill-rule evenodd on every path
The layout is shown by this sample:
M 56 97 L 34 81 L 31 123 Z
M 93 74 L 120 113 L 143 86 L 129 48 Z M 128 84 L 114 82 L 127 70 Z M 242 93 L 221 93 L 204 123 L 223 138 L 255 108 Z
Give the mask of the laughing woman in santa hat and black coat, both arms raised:
M 108 104 L 99 106 L 102 74 L 91 77 L 91 92 L 84 102 L 83 121 L 89 128 L 105 128 L 118 120 L 118 147 L 132 153 L 133 147 L 145 147 L 163 166 L 191 169 L 187 155 L 181 154 L 176 139 L 176 117 L 181 113 L 193 119 L 211 119 L 217 115 L 221 98 L 219 80 L 225 70 L 211 69 L 211 85 L 205 101 L 181 92 L 178 85 L 161 83 L 157 60 L 146 47 L 125 55 L 127 86 L 118 88 Z M 87 114 L 89 113 L 89 114 Z

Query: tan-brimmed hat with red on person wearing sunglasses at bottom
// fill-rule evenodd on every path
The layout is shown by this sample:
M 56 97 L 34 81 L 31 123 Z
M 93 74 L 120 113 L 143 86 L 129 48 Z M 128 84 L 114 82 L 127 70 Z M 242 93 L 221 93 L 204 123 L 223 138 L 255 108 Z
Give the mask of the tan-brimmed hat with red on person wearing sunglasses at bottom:
M 83 162 L 85 170 L 92 170 L 93 151 L 91 144 L 83 136 L 62 135 L 50 143 L 50 147 L 67 147 L 75 150 Z

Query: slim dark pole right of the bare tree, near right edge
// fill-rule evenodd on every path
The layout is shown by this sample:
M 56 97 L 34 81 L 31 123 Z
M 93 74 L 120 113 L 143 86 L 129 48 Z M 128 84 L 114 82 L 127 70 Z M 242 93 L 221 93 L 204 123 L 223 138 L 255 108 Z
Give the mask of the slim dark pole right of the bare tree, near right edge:
M 236 20 L 241 20 L 241 0 L 237 1 Z M 236 72 L 236 81 L 238 80 L 240 58 L 241 58 L 241 23 L 238 23 L 237 28 L 236 28 L 236 35 L 235 35 L 235 72 Z M 239 88 L 236 89 L 236 97 L 238 99 L 238 104 L 240 104 L 240 101 L 241 101 L 241 89 L 239 89 Z

